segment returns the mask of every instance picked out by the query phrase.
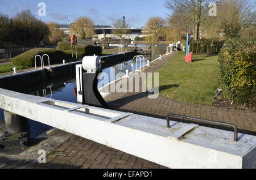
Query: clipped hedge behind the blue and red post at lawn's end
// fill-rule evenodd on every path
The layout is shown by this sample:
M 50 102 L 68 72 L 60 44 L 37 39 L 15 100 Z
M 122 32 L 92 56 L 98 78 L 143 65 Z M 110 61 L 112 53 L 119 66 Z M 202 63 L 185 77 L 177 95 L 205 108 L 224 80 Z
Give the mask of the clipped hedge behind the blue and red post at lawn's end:
M 207 53 L 207 54 L 217 54 L 220 53 L 224 41 L 216 39 L 206 39 L 203 38 L 199 41 L 191 40 L 191 50 L 195 54 Z

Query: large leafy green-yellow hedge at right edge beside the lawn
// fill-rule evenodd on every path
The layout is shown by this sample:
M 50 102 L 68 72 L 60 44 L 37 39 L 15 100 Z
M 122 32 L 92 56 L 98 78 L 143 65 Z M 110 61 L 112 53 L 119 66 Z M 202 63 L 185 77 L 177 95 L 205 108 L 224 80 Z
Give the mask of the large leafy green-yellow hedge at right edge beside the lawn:
M 220 85 L 237 104 L 256 104 L 256 37 L 225 42 L 220 57 Z

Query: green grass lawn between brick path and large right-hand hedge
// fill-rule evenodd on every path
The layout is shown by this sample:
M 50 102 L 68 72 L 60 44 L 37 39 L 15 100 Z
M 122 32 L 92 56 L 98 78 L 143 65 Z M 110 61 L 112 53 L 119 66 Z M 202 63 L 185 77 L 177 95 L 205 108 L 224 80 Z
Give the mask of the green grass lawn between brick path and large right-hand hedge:
M 193 55 L 185 63 L 185 54 L 178 53 L 159 72 L 160 94 L 191 104 L 212 105 L 218 87 L 218 55 Z

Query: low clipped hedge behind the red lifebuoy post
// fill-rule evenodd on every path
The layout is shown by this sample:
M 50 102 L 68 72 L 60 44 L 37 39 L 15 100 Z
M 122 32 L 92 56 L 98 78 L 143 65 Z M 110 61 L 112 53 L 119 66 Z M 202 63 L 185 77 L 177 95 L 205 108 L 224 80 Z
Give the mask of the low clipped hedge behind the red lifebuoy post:
M 62 50 L 64 52 L 66 51 L 71 52 L 71 42 L 58 42 L 57 49 Z M 75 46 L 73 46 L 73 52 L 75 53 Z M 84 55 L 94 55 L 94 54 L 101 55 L 102 49 L 100 46 L 78 44 L 77 53 L 84 54 Z

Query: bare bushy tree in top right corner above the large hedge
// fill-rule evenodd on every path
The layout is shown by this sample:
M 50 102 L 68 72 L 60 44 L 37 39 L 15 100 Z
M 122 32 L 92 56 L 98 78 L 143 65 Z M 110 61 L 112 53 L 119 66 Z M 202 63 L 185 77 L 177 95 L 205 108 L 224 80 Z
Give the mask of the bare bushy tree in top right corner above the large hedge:
M 221 0 L 217 3 L 217 22 L 228 38 L 238 37 L 255 24 L 255 7 L 248 0 Z

